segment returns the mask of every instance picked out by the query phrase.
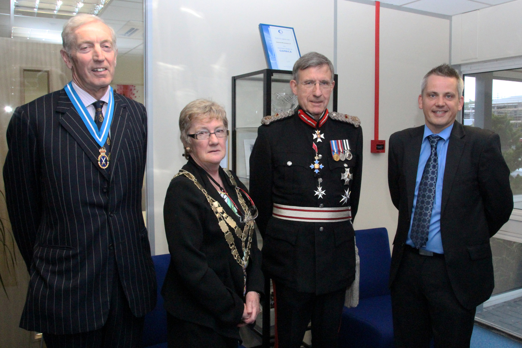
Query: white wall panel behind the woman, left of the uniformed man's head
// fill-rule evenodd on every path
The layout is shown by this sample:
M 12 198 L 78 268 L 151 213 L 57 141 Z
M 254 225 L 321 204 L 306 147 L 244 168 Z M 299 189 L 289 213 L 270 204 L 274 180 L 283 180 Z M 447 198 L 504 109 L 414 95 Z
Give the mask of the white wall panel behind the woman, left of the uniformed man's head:
M 164 254 L 168 253 L 165 192 L 186 163 L 177 124 L 181 109 L 196 98 L 210 97 L 224 104 L 230 115 L 231 77 L 266 68 L 259 23 L 293 27 L 302 54 L 318 51 L 333 59 L 334 1 L 156 0 L 151 4 L 153 102 L 148 110 L 153 117 L 149 137 L 153 232 L 155 254 Z

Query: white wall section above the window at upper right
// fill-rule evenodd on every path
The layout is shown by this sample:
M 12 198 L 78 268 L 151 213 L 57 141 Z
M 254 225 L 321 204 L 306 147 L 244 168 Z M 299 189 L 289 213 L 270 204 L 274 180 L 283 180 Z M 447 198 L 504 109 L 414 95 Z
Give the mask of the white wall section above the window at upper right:
M 522 0 L 453 16 L 452 64 L 522 55 Z

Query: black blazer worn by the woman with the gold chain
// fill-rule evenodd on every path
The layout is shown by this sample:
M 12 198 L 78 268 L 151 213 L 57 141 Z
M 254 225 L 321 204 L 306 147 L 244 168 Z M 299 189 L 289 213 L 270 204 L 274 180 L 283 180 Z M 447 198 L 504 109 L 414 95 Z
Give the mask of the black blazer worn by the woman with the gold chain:
M 182 168 L 217 200 L 227 214 L 243 229 L 232 209 L 210 183 L 205 170 L 191 158 Z M 219 174 L 232 199 L 238 204 L 235 188 L 219 169 Z M 246 187 L 234 175 L 239 187 Z M 165 309 L 173 316 L 212 328 L 226 337 L 239 339 L 244 310 L 243 269 L 234 259 L 205 195 L 185 175 L 173 178 L 163 206 L 165 234 L 171 255 L 161 294 Z M 234 243 L 243 255 L 241 240 Z M 263 293 L 264 278 L 257 239 L 252 236 L 250 261 L 246 268 L 246 292 Z

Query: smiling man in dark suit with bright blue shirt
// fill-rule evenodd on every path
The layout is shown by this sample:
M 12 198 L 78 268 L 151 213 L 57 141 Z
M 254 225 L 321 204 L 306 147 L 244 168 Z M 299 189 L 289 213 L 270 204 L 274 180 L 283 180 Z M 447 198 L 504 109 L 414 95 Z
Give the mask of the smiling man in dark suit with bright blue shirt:
M 494 287 L 489 239 L 513 195 L 499 135 L 462 126 L 464 82 L 443 64 L 422 80 L 425 125 L 389 140 L 388 184 L 399 210 L 390 286 L 395 346 L 469 347 L 476 307 Z

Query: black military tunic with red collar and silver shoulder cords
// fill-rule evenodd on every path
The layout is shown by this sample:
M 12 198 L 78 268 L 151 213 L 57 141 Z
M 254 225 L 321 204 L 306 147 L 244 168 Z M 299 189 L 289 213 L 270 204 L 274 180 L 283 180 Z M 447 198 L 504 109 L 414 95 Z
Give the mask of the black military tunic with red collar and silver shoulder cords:
M 361 190 L 362 129 L 357 117 L 325 112 L 315 122 L 310 116 L 300 117 L 299 110 L 298 106 L 293 115 L 258 128 L 250 157 L 250 192 L 259 212 L 256 222 L 263 236 L 263 270 L 296 291 L 320 295 L 346 288 L 354 280 L 352 223 L 283 220 L 272 216 L 272 204 L 350 206 L 353 221 Z M 314 139 L 317 130 L 321 141 Z M 330 140 L 346 139 L 352 158 L 335 161 Z M 311 168 L 316 156 L 312 143 L 321 157 L 318 164 L 323 166 L 318 173 Z M 341 174 L 347 169 L 353 176 L 345 185 Z M 343 199 L 347 190 L 349 198 Z

